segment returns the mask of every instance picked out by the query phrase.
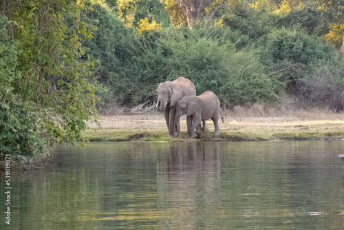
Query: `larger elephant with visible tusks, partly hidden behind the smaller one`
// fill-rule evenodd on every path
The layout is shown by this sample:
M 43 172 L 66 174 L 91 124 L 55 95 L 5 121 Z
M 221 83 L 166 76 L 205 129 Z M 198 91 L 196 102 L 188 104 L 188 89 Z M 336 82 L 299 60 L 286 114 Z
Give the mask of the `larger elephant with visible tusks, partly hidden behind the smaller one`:
M 169 136 L 175 137 L 175 105 L 184 96 L 196 95 L 195 85 L 181 76 L 175 81 L 160 83 L 156 92 L 158 94 L 156 106 L 158 107 L 160 103 L 160 111 L 164 111 Z

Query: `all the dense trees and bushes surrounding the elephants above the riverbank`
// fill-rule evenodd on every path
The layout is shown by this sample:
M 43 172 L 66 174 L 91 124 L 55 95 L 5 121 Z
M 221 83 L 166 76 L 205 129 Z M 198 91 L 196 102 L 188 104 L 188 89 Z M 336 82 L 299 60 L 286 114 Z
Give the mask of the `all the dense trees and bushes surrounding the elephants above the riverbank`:
M 344 105 L 342 1 L 2 0 L 0 152 L 83 140 L 100 107 L 185 76 L 224 107 Z M 101 98 L 101 99 L 100 99 Z

